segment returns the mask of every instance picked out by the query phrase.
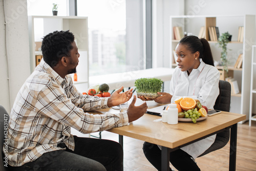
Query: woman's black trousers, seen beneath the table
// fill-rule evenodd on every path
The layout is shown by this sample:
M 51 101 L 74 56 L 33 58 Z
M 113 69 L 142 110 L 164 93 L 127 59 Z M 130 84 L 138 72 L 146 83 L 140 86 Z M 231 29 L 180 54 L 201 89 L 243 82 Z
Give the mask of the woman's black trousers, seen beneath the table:
M 158 170 L 161 170 L 161 149 L 156 144 L 144 142 L 143 152 L 147 160 Z M 195 163 L 191 159 L 191 156 L 182 149 L 170 152 L 170 163 L 180 171 L 200 170 L 197 163 Z

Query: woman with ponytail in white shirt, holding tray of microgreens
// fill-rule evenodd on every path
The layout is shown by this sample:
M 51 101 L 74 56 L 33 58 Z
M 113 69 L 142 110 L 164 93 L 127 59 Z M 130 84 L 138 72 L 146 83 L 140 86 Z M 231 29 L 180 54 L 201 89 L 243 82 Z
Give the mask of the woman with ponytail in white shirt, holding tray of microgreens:
M 219 95 L 220 73 L 214 67 L 209 43 L 197 36 L 182 38 L 175 50 L 178 66 L 170 82 L 170 93 L 158 92 L 161 96 L 155 99 L 159 103 L 174 102 L 177 97 L 191 97 L 200 100 L 202 105 L 213 109 Z M 214 143 L 216 135 L 181 147 L 170 153 L 170 162 L 178 170 L 200 170 L 192 158 L 196 159 Z M 161 150 L 152 143 L 143 144 L 143 152 L 158 170 L 161 170 Z

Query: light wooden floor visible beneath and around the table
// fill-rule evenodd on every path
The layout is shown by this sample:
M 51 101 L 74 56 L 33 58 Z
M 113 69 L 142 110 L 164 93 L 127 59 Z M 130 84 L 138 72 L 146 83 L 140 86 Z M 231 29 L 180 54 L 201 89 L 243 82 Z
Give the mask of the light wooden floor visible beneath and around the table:
M 91 135 L 99 136 L 99 133 Z M 83 135 L 88 136 L 88 135 Z M 102 139 L 118 141 L 118 135 L 104 131 L 101 133 Z M 237 169 L 236 170 L 256 170 L 256 121 L 249 127 L 248 122 L 238 124 L 238 142 L 237 142 Z M 94 137 L 92 137 L 94 138 Z M 142 151 L 143 141 L 125 137 L 123 139 L 124 147 L 124 171 L 155 171 L 156 169 L 145 158 Z M 228 170 L 229 164 L 229 143 L 218 151 L 209 153 L 203 157 L 197 158 L 196 162 L 201 170 Z M 172 167 L 172 165 L 170 164 Z M 174 170 L 174 167 L 172 167 Z

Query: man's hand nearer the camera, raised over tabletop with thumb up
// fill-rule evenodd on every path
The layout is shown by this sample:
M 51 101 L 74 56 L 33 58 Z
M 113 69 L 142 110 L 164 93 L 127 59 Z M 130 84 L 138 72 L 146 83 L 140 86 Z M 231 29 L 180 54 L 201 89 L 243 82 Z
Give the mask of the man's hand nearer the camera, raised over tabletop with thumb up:
M 146 113 L 147 105 L 146 102 L 143 102 L 141 105 L 135 106 L 136 96 L 134 95 L 132 103 L 129 105 L 127 109 L 127 115 L 129 118 L 129 122 L 135 121 L 139 119 L 141 116 Z

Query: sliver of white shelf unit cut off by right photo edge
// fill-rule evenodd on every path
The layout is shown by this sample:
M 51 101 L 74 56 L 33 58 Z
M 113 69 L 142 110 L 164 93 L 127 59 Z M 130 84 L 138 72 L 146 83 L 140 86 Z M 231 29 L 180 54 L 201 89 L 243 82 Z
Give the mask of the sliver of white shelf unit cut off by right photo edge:
M 254 101 L 254 103 L 253 103 L 253 101 Z M 252 113 L 252 111 L 254 111 L 253 104 L 255 104 L 255 103 L 256 103 L 256 45 L 252 45 L 249 126 L 251 126 L 251 121 L 256 121 L 256 115 L 253 116 L 253 113 Z M 255 106 L 254 106 L 254 108 L 255 108 Z

